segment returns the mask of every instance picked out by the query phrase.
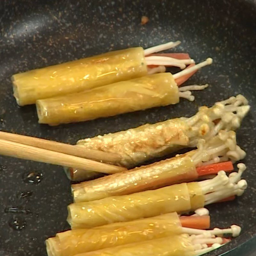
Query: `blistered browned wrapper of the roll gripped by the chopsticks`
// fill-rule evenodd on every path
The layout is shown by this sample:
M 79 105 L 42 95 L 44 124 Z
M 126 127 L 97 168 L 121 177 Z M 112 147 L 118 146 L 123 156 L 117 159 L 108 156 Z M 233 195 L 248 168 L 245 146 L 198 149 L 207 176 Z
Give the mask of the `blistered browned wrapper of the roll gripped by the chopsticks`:
M 189 127 L 182 118 L 144 124 L 126 131 L 79 140 L 77 145 L 120 154 L 120 164 L 132 168 L 146 160 L 172 153 L 189 145 Z

